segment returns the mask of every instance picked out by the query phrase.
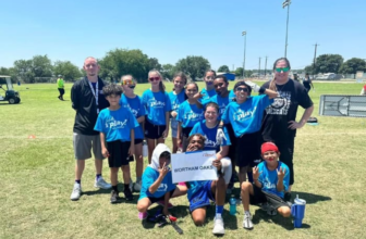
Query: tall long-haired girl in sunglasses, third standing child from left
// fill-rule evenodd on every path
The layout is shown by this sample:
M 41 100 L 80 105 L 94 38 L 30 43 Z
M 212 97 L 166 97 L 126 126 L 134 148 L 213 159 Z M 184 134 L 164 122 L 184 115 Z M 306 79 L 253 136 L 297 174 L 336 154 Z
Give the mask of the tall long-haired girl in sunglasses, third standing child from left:
M 151 88 L 145 90 L 142 98 L 147 112 L 145 137 L 148 146 L 148 162 L 150 163 L 155 147 L 158 143 L 163 143 L 168 137 L 171 104 L 160 72 L 151 70 L 148 73 L 148 80 Z

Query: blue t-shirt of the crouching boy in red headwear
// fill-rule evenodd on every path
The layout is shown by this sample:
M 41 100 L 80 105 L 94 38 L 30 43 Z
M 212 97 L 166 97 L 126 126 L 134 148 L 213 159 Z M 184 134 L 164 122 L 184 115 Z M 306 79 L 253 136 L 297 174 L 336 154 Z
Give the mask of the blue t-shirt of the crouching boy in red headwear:
M 290 184 L 290 171 L 288 165 L 279 161 L 279 165 L 277 169 L 279 171 L 280 167 L 282 169 L 285 169 L 284 177 L 283 177 L 283 189 L 286 191 L 289 189 L 289 184 Z M 283 191 L 278 191 L 277 190 L 277 183 L 278 183 L 278 176 L 277 176 L 277 171 L 269 171 L 267 168 L 267 162 L 264 161 L 258 164 L 258 169 L 260 172 L 258 180 L 263 185 L 263 190 L 267 192 L 271 192 L 273 194 L 277 194 L 283 199 L 284 192 Z

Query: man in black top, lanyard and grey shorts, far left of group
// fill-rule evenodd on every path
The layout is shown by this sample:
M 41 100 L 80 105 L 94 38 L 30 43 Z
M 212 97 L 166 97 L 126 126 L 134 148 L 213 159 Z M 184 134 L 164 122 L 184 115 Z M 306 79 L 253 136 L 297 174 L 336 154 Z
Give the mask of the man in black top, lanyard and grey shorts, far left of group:
M 95 58 L 87 58 L 84 61 L 86 77 L 76 81 L 71 89 L 72 108 L 76 111 L 74 123 L 73 146 L 76 159 L 75 184 L 70 199 L 78 200 L 82 194 L 81 179 L 85 167 L 85 160 L 91 158 L 90 150 L 95 156 L 96 179 L 95 187 L 110 189 L 101 177 L 102 153 L 99 133 L 94 130 L 98 113 L 109 106 L 102 95 L 103 81 L 98 77 L 99 65 Z

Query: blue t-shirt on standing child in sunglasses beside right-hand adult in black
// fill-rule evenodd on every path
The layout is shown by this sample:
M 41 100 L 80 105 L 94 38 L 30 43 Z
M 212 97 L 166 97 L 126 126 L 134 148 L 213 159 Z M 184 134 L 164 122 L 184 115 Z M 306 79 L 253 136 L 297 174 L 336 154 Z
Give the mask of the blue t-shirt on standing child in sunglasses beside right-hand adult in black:
M 245 102 L 230 102 L 222 115 L 224 124 L 231 124 L 235 136 L 256 133 L 260 129 L 264 110 L 273 102 L 267 95 L 248 97 Z

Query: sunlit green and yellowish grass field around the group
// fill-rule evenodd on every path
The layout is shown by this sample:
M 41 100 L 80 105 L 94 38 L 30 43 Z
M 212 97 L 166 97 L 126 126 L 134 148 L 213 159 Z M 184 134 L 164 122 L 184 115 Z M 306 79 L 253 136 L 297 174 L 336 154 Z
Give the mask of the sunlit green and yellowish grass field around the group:
M 93 187 L 94 162 L 83 175 L 83 196 L 70 201 L 74 184 L 72 128 L 75 112 L 60 101 L 56 85 L 22 85 L 21 104 L 0 103 L 0 238 L 168 238 L 179 237 L 172 227 L 151 228 L 137 218 L 136 201 L 109 203 L 110 191 Z M 199 85 L 203 87 L 203 84 Z M 243 209 L 223 213 L 227 238 L 366 238 L 365 137 L 366 118 L 318 115 L 320 95 L 358 95 L 361 84 L 315 83 L 313 116 L 318 126 L 297 131 L 295 143 L 295 185 L 293 196 L 307 201 L 303 228 L 294 229 L 290 218 L 270 217 L 252 206 L 254 229 L 242 228 Z M 168 89 L 172 88 L 168 84 Z M 233 87 L 231 83 L 230 88 Z M 142 93 L 148 85 L 138 85 Z M 298 116 L 303 110 L 300 110 Z M 35 139 L 28 139 L 34 135 Z M 171 146 L 171 140 L 167 140 Z M 134 163 L 132 165 L 135 178 Z M 109 180 L 107 162 L 103 176 Z M 119 176 L 120 180 L 122 176 Z M 120 185 L 122 189 L 122 185 Z M 235 184 L 239 193 L 239 184 Z M 211 238 L 215 206 L 208 210 L 207 224 L 195 227 L 186 197 L 173 199 L 181 238 Z M 156 209 L 151 207 L 152 211 Z

